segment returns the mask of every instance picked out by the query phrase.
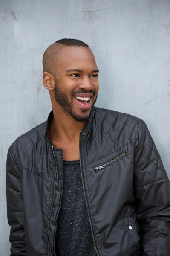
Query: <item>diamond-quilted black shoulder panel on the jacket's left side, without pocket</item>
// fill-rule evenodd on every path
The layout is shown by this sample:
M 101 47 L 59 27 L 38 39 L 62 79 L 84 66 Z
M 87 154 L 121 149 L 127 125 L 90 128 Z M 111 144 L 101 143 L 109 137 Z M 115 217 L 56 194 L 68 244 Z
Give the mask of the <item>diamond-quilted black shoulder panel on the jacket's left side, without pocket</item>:
M 50 143 L 44 143 L 46 122 L 21 135 L 11 146 L 17 166 L 48 181 L 48 166 L 52 164 Z M 14 150 L 17 148 L 17 151 Z M 48 156 L 48 157 L 46 157 Z

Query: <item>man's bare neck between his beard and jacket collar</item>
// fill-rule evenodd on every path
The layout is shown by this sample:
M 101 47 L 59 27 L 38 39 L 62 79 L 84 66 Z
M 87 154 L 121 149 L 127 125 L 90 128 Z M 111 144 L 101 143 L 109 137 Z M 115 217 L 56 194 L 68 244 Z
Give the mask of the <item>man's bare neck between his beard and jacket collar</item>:
M 75 142 L 79 140 L 80 131 L 86 122 L 78 122 L 68 113 L 60 113 L 60 110 L 53 109 L 54 119 L 50 127 L 50 137 L 52 140 L 65 140 Z

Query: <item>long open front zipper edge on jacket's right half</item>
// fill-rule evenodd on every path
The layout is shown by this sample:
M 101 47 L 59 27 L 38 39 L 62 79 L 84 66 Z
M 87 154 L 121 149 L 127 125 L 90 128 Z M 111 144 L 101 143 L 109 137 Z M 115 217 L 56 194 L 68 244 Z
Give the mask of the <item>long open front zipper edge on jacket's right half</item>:
M 85 201 L 86 201 L 87 214 L 88 214 L 88 217 L 89 217 L 90 227 L 91 227 L 91 231 L 92 231 L 93 243 L 94 243 L 94 246 L 95 246 L 95 250 L 96 250 L 97 256 L 99 256 L 99 252 L 98 252 L 98 249 L 97 249 L 97 246 L 96 246 L 96 242 L 95 242 L 95 235 L 94 235 L 94 230 L 93 230 L 93 227 L 92 227 L 92 220 L 91 220 L 90 213 L 89 213 L 89 205 L 88 205 L 88 202 L 87 202 L 86 190 L 85 190 L 85 185 L 84 185 L 84 175 L 83 175 L 82 164 L 81 164 L 81 140 L 80 140 L 79 155 L 80 155 L 81 180 L 82 180 L 82 184 L 83 184 L 83 192 L 84 192 L 84 198 L 85 198 Z

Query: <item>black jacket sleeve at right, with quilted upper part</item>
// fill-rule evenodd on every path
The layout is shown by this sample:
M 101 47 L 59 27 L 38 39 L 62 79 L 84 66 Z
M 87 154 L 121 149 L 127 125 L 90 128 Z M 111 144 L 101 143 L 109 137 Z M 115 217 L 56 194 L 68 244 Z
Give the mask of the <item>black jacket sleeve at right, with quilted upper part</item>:
M 135 197 L 141 221 L 142 256 L 170 255 L 170 181 L 144 121 L 138 123 Z

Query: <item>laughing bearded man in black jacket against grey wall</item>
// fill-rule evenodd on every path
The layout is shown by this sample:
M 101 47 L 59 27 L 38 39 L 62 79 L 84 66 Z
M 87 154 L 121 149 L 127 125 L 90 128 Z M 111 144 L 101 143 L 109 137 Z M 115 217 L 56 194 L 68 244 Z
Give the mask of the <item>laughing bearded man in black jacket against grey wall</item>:
M 93 105 L 88 45 L 61 39 L 43 55 L 52 112 L 7 157 L 14 256 L 168 256 L 170 182 L 145 123 Z

